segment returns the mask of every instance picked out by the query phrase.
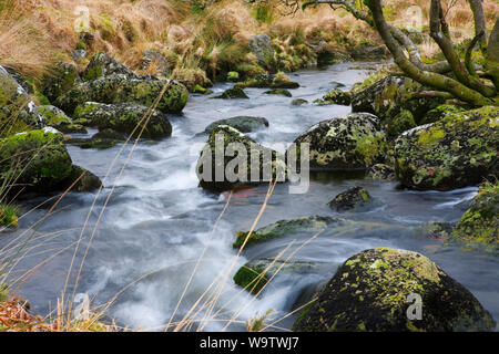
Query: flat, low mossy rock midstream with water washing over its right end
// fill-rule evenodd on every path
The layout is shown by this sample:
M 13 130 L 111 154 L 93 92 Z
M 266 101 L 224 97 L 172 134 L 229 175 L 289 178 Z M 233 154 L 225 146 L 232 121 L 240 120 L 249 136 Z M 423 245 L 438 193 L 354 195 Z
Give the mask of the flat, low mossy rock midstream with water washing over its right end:
M 247 240 L 246 246 L 265 242 L 285 236 L 305 232 L 307 233 L 318 232 L 320 230 L 326 229 L 327 227 L 337 227 L 337 228 L 348 227 L 352 223 L 353 221 L 349 220 L 320 216 L 279 220 L 277 222 L 254 230 L 249 239 Z M 248 231 L 238 231 L 237 239 L 234 241 L 233 247 L 240 248 L 243 244 L 244 240 L 246 239 Z

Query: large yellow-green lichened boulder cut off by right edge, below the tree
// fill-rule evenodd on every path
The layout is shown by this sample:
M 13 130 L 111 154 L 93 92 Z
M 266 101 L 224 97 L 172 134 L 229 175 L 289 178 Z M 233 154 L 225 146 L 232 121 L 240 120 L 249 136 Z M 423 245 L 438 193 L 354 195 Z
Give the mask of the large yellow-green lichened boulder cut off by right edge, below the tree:
M 395 144 L 395 169 L 407 187 L 461 188 L 497 176 L 498 148 L 498 107 L 455 113 L 400 135 Z

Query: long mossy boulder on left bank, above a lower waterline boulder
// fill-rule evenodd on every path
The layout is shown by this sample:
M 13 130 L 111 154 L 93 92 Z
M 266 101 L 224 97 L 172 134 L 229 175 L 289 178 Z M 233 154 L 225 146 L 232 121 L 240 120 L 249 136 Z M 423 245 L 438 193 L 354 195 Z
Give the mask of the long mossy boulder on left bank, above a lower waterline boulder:
M 180 113 L 187 103 L 189 92 L 184 85 L 175 81 L 129 79 L 123 74 L 112 74 L 79 84 L 60 96 L 55 105 L 68 114 L 85 102 L 100 103 L 136 103 L 151 106 L 162 92 L 157 110 L 163 113 Z

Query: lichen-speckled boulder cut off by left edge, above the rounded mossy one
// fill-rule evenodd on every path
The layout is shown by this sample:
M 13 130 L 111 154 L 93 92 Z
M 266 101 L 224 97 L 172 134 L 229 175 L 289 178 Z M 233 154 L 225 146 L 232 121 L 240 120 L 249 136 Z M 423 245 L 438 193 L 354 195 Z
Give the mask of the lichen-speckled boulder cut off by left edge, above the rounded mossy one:
M 0 136 L 44 126 L 24 88 L 0 65 Z

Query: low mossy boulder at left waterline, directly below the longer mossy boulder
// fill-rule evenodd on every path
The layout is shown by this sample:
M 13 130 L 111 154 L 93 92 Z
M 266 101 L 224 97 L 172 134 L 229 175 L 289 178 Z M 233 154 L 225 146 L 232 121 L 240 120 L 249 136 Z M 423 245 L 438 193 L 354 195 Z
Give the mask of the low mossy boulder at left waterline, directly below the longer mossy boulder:
M 135 103 L 100 104 L 88 102 L 74 111 L 75 118 L 86 119 L 99 129 L 111 128 L 138 137 L 142 131 L 141 121 L 149 108 Z M 145 121 L 144 121 L 145 122 Z M 135 128 L 139 125 L 138 128 Z M 172 135 L 172 125 L 159 110 L 152 111 L 141 137 L 160 139 Z

